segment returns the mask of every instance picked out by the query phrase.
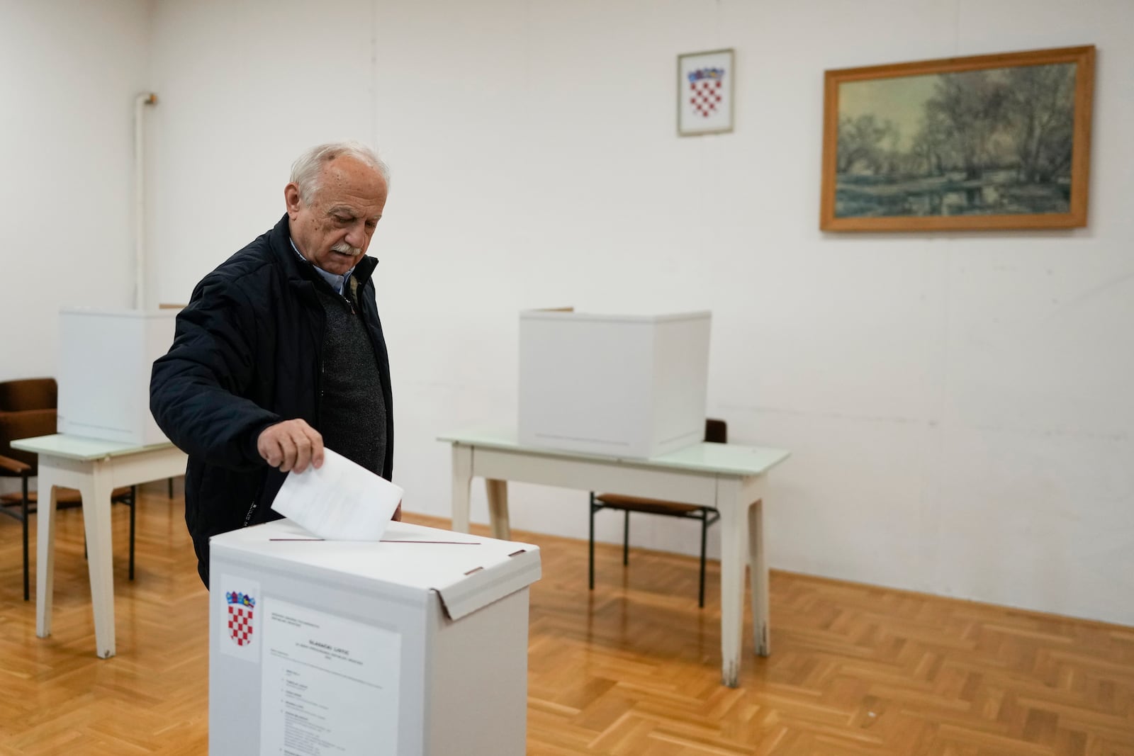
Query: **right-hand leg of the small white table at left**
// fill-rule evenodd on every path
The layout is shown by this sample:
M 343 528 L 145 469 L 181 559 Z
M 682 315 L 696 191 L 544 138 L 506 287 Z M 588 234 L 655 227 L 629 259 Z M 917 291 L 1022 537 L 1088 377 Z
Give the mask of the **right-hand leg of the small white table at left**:
M 83 525 L 86 529 L 86 566 L 91 575 L 91 606 L 94 610 L 95 653 L 115 655 L 115 564 L 110 529 L 110 470 L 101 461 L 79 489 Z

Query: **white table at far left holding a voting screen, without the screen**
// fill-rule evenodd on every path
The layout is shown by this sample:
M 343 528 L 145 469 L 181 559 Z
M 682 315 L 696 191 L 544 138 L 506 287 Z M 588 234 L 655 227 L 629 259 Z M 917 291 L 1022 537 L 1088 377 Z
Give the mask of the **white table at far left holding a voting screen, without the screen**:
M 95 653 L 115 655 L 115 580 L 110 532 L 110 494 L 185 474 L 185 452 L 166 442 L 135 447 L 57 433 L 12 441 L 11 445 L 40 456 L 40 507 L 35 518 L 35 635 L 51 635 L 54 589 L 56 487 L 78 489 L 83 496 L 91 604 L 94 609 Z M 136 502 L 135 502 L 135 506 Z

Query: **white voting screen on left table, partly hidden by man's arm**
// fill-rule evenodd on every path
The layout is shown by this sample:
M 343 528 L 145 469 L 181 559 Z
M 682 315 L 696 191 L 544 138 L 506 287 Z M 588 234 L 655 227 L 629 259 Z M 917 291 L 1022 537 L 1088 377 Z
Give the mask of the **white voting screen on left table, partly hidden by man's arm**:
M 59 433 L 147 445 L 167 441 L 150 414 L 153 360 L 174 343 L 175 311 L 59 312 Z

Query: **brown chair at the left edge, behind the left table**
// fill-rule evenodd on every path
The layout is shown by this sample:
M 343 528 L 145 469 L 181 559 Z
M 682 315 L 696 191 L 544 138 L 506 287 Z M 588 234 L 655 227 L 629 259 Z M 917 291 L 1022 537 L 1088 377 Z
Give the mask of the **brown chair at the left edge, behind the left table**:
M 0 477 L 19 478 L 20 492 L 0 495 L 0 513 L 24 525 L 24 601 L 31 597 L 27 559 L 27 519 L 34 515 L 39 496 L 28 490 L 28 478 L 35 477 L 39 456 L 12 449 L 16 439 L 31 439 L 56 432 L 56 401 L 58 390 L 54 379 L 24 379 L 0 382 Z M 112 501 L 130 508 L 129 577 L 134 579 L 134 487 L 115 489 Z M 60 509 L 83 503 L 78 491 L 57 489 L 56 503 Z

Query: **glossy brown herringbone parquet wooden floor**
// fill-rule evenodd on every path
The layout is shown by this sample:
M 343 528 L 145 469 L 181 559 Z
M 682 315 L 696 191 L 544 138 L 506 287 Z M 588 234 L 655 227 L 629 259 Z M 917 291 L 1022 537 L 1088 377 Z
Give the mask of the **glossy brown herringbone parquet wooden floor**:
M 164 484 L 144 489 L 129 583 L 116 507 L 110 660 L 93 653 L 79 511 L 59 512 L 49 639 L 23 601 L 19 524 L 0 518 L 0 754 L 206 753 L 208 602 L 183 515 Z M 693 559 L 634 551 L 624 568 L 600 546 L 592 593 L 585 543 L 515 537 L 543 552 L 530 754 L 1134 755 L 1134 628 L 773 572 L 772 656 L 746 629 L 729 689 L 716 564 L 699 610 Z

